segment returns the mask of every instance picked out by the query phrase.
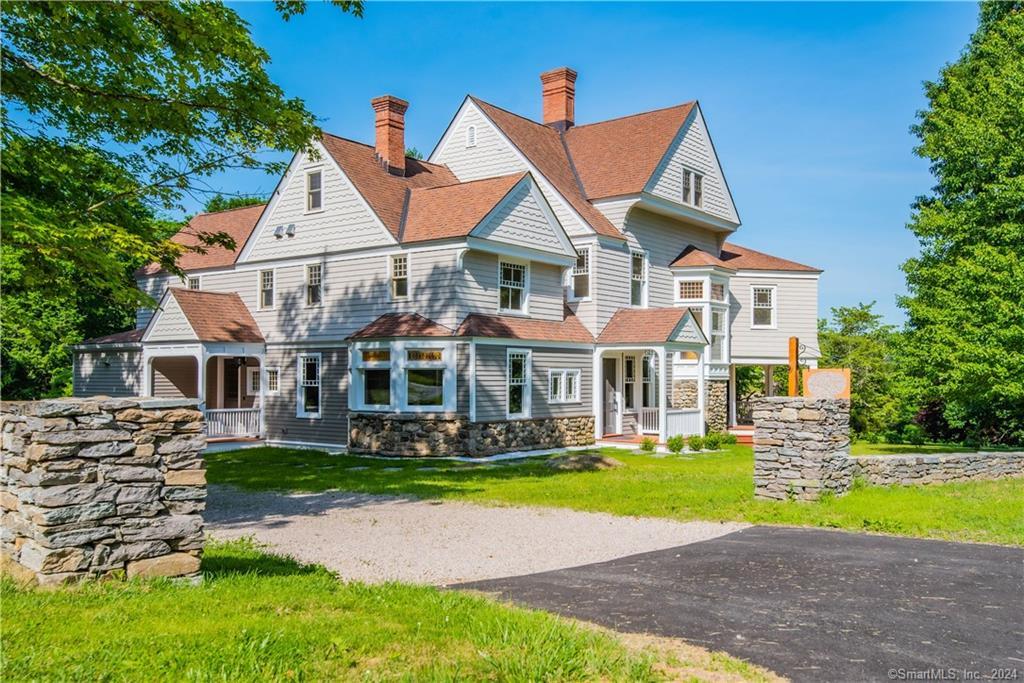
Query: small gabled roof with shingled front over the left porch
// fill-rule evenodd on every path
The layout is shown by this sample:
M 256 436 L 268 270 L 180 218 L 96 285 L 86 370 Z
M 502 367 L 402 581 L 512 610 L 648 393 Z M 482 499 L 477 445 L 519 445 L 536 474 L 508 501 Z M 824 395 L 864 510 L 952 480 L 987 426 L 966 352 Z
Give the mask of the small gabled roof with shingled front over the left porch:
M 179 332 L 183 317 L 187 333 Z M 177 330 L 173 328 L 177 325 Z M 171 328 L 166 330 L 166 328 Z M 263 343 L 263 334 L 238 294 L 172 287 L 164 293 L 142 341 Z

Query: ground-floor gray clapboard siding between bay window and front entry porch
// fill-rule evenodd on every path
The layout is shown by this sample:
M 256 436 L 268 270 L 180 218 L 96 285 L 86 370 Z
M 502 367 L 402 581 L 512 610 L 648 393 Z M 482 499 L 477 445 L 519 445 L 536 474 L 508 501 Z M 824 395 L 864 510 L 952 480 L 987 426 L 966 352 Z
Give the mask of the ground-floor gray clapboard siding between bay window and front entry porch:
M 528 344 L 500 346 L 479 344 L 476 347 L 476 420 L 506 420 L 508 396 L 506 387 L 507 349 L 528 349 Z M 593 413 L 593 365 L 589 349 L 532 348 L 532 383 L 530 399 L 532 418 L 571 417 Z M 581 371 L 578 403 L 548 402 L 548 370 L 574 368 Z

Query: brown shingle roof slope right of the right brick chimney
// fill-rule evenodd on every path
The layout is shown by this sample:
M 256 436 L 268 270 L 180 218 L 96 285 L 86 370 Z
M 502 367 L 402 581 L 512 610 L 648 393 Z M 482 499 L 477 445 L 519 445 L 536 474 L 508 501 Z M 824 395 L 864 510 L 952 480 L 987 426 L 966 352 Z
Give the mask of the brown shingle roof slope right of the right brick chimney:
M 694 102 L 569 128 L 577 174 L 591 200 L 641 191 Z

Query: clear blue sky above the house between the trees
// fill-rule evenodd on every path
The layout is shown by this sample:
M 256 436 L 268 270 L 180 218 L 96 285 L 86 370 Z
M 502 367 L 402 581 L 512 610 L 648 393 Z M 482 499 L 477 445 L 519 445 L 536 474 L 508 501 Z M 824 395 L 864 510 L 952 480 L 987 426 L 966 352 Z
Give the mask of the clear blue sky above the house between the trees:
M 820 312 L 878 300 L 902 319 L 905 229 L 932 185 L 909 126 L 922 82 L 974 30 L 969 3 L 326 4 L 285 23 L 233 5 L 269 72 L 326 130 L 373 140 L 370 99 L 411 102 L 407 143 L 425 155 L 472 93 L 539 118 L 542 71 L 575 69 L 577 121 L 699 99 L 742 225 L 733 241 L 825 270 Z M 230 175 L 225 189 L 276 178 Z

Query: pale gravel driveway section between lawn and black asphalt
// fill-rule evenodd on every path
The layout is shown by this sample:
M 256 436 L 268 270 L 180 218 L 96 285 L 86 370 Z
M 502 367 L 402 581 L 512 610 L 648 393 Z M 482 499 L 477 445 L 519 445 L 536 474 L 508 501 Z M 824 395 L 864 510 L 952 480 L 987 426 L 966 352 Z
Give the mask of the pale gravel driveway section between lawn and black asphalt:
M 342 578 L 447 585 L 550 571 L 673 548 L 748 524 L 676 522 L 554 508 L 210 486 L 207 530 L 251 536 Z

